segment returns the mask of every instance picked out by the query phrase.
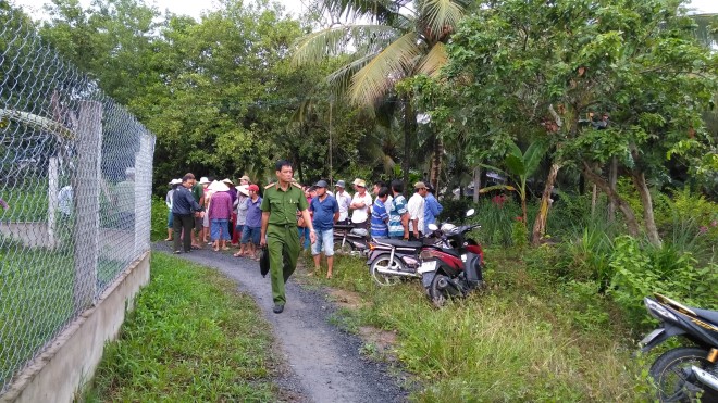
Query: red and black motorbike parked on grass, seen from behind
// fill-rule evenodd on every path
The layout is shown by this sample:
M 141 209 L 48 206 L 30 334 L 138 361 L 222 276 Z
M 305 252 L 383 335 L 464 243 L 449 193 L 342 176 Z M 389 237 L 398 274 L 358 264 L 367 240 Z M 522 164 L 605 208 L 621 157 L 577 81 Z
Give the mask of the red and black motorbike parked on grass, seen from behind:
M 473 209 L 467 212 L 467 216 L 470 215 Z M 460 227 L 444 224 L 440 229 L 434 224 L 429 225 L 441 241 L 437 247 L 422 249 L 418 272 L 434 305 L 441 307 L 448 299 L 463 298 L 483 287 L 484 252 L 476 241 L 466 238 L 467 232 L 478 227 L 479 224 Z

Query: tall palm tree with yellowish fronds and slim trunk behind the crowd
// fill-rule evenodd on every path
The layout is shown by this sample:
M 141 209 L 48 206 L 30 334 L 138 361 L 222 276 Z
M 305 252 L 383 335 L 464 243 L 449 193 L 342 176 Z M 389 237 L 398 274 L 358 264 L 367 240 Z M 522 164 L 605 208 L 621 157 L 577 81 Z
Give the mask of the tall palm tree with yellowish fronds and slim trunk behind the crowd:
M 332 24 L 301 38 L 294 64 L 319 63 L 327 56 L 347 58 L 344 65 L 329 75 L 329 81 L 352 104 L 373 108 L 400 80 L 438 72 L 447 61 L 446 42 L 472 2 L 320 0 L 320 3 L 331 15 L 347 17 L 350 23 Z M 405 180 L 417 127 L 411 101 L 411 92 L 405 91 L 400 97 Z M 435 143 L 441 147 L 438 141 Z

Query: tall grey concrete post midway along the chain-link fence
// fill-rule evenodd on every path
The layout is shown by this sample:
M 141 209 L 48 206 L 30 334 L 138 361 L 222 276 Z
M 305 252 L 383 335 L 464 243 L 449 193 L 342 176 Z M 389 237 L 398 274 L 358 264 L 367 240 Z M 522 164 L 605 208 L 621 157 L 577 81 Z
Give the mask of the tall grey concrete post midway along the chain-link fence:
M 77 164 L 73 178 L 75 211 L 75 312 L 95 304 L 100 228 L 102 104 L 81 101 Z

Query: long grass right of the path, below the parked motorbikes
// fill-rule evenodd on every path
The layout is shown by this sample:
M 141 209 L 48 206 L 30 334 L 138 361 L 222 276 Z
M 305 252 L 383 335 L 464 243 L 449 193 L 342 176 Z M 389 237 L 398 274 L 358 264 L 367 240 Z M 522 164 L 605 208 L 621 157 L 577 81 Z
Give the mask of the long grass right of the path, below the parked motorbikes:
M 337 256 L 332 280 L 307 278 L 361 295 L 335 318 L 350 331 L 396 331 L 394 354 L 423 380 L 414 401 L 651 400 L 616 308 L 592 284 L 557 282 L 519 256 L 487 251 L 490 288 L 442 310 L 418 281 L 374 286 L 361 260 Z

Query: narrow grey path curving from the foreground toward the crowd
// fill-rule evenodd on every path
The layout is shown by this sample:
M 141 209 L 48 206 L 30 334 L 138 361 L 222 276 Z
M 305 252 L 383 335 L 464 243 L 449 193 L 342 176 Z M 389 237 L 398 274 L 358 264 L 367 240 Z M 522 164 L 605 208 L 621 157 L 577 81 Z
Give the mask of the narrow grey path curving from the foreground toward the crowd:
M 153 249 L 170 252 L 166 242 Z M 269 277 L 259 274 L 259 264 L 209 249 L 177 255 L 188 261 L 215 267 L 237 281 L 242 292 L 250 294 L 272 325 L 292 374 L 280 381 L 288 389 L 289 400 L 307 402 L 404 402 L 407 392 L 397 385 L 388 368 L 363 357 L 361 339 L 329 324 L 334 305 L 326 292 L 300 287 L 290 278 L 287 305 L 282 314 L 272 312 Z M 295 273 L 295 276 L 301 275 Z

